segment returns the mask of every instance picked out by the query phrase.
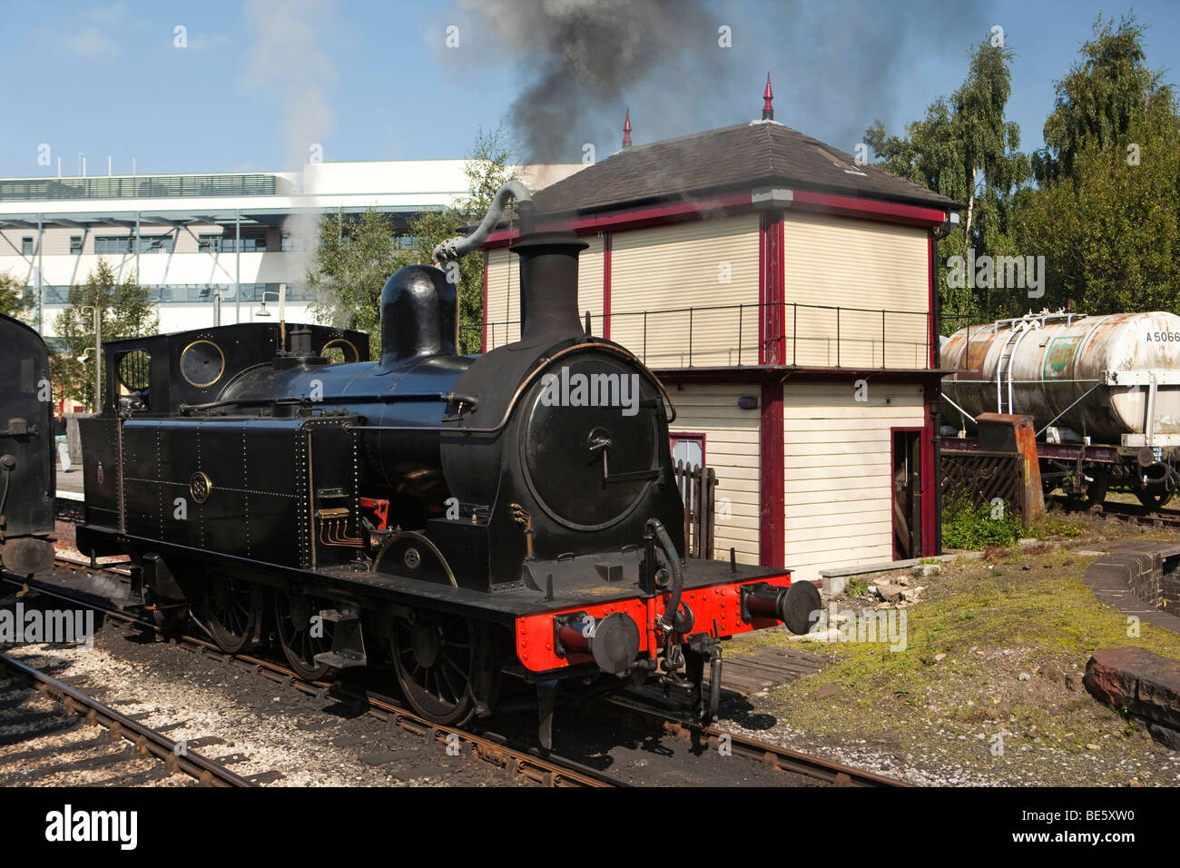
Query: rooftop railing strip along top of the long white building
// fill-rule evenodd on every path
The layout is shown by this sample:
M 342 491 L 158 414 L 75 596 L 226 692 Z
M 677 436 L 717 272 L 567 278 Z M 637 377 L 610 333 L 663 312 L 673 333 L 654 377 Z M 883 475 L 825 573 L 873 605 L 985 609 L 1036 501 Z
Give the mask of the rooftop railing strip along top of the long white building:
M 290 183 L 277 175 L 133 175 L 94 178 L 0 181 L 0 201 L 60 198 L 185 198 L 286 196 Z

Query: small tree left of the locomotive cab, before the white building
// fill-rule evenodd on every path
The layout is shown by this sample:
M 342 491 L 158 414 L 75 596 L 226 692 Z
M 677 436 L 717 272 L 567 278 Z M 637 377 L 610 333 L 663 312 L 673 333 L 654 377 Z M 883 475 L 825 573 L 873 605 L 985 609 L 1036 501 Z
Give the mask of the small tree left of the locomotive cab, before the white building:
M 99 309 L 103 342 L 120 338 L 139 338 L 159 331 L 151 291 L 139 286 L 135 274 L 122 282 L 105 259 L 86 276 L 81 286 L 70 287 L 70 301 L 54 320 L 59 352 L 50 357 L 50 377 L 65 397 L 94 406 L 94 314 Z M 79 358 L 86 361 L 79 361 Z M 105 373 L 105 372 L 104 372 Z

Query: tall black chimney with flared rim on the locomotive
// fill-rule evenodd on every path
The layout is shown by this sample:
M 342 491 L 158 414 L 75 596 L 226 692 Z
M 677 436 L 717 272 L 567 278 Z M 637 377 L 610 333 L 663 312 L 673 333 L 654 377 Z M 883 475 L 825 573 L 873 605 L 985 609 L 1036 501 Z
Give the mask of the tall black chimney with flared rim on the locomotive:
M 578 254 L 588 247 L 573 233 L 537 233 L 510 248 L 520 257 L 520 342 L 582 334 Z

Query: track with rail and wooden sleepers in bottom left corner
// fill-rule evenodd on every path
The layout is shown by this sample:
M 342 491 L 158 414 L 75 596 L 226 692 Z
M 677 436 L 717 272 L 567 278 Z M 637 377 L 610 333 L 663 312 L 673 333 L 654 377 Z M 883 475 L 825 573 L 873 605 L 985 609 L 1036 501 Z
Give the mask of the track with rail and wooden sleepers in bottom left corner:
M 106 755 L 106 748 L 101 743 L 101 739 L 97 739 L 93 743 L 88 743 L 88 746 L 91 748 L 90 756 L 74 759 L 72 763 L 66 764 L 63 766 L 64 771 L 68 771 L 71 768 L 79 770 L 85 769 L 96 763 L 107 765 L 111 759 L 117 763 L 131 763 L 140 757 L 151 756 L 163 763 L 170 774 L 183 772 L 204 787 L 257 785 L 253 781 L 237 775 L 230 769 L 227 769 L 224 765 L 221 765 L 208 757 L 203 757 L 199 753 L 195 753 L 185 746 L 178 745 L 177 742 L 173 742 L 163 732 L 153 730 L 150 726 L 144 726 L 138 720 L 116 711 L 83 691 L 71 687 L 46 672 L 30 666 L 9 654 L 0 653 L 0 672 L 2 671 L 7 671 L 15 676 L 17 679 L 26 681 L 42 697 L 60 704 L 65 714 L 77 714 L 84 718 L 87 724 L 103 726 L 110 733 L 111 739 L 123 738 L 130 742 L 136 749 L 130 753 L 119 753 L 110 757 Z M 4 692 L 4 694 L 18 692 L 19 690 L 9 687 Z M 4 694 L 0 694 L 0 697 Z M 17 704 L 17 707 L 22 704 L 19 703 L 19 699 L 11 699 L 11 701 Z M 44 722 L 45 717 L 42 716 L 41 719 Z M 2 723 L 2 720 L 0 720 L 0 723 Z M 53 722 L 50 723 L 51 726 L 47 732 L 50 735 L 57 735 L 60 726 L 54 725 Z M 22 725 L 27 726 L 28 724 L 25 723 Z M 33 746 L 38 742 L 39 735 L 41 733 L 39 733 L 35 729 L 30 730 L 27 733 L 22 733 L 21 742 L 30 744 L 30 750 L 24 753 L 31 756 L 39 752 L 38 749 Z M 143 776 L 143 772 L 138 772 L 138 775 Z

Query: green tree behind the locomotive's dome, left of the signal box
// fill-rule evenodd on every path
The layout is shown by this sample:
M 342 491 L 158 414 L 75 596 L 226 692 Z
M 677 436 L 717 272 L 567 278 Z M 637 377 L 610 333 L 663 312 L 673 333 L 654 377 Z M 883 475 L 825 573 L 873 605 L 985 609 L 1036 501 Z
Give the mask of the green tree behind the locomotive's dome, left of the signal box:
M 385 281 L 402 266 L 430 263 L 439 242 L 483 220 L 496 191 L 516 177 L 516 154 L 503 125 L 490 132 L 480 129 L 464 167 L 471 194 L 451 208 L 413 217 L 401 237 L 394 237 L 388 216 L 372 209 L 359 218 L 326 216 L 320 224 L 315 260 L 308 269 L 308 283 L 316 291 L 313 313 L 337 327 L 378 334 Z M 458 266 L 454 276 L 459 294 L 459 352 L 478 353 L 483 335 L 483 253 L 468 253 Z M 371 344 L 376 358 L 380 346 L 376 341 Z

